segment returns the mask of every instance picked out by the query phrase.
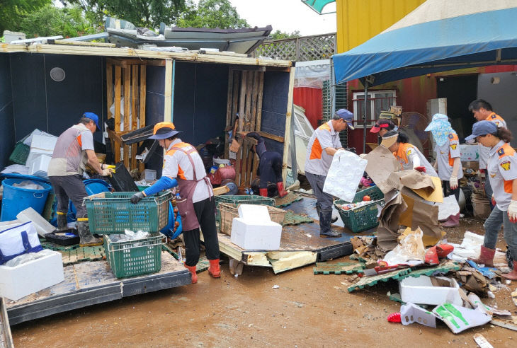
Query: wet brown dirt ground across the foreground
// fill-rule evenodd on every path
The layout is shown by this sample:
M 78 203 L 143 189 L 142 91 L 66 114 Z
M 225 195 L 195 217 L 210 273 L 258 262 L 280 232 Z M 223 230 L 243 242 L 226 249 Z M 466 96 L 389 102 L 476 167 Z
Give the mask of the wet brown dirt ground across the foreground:
M 448 230 L 460 243 L 465 231 L 481 233 L 479 221 Z M 498 243 L 504 248 L 502 233 Z M 331 262 L 346 262 L 341 257 Z M 348 293 L 346 275 L 314 275 L 312 265 L 273 274 L 244 267 L 239 277 L 199 274 L 198 284 L 132 296 L 11 327 L 16 347 L 477 347 L 481 333 L 494 347 L 517 347 L 517 332 L 490 324 L 454 335 L 443 323 L 431 328 L 388 323 L 400 305 L 388 291 L 397 282 Z M 273 289 L 274 285 L 280 286 Z M 509 286 L 512 291 L 517 282 Z M 517 315 L 510 291 L 483 298 Z

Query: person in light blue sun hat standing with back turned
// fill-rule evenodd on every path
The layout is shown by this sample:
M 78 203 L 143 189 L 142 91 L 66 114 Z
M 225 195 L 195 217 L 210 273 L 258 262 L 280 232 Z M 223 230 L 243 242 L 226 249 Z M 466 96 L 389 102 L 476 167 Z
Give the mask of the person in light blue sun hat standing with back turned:
M 434 168 L 438 168 L 438 176 L 442 180 L 443 196 L 455 195 L 460 202 L 460 185 L 458 180 L 463 178 L 461 166 L 460 139 L 453 127 L 450 126 L 449 117 L 443 114 L 433 115 L 433 120 L 426 128 L 426 132 L 433 134 L 436 142 L 436 162 Z M 460 212 L 449 216 L 447 221 L 441 224 L 443 227 L 460 226 Z

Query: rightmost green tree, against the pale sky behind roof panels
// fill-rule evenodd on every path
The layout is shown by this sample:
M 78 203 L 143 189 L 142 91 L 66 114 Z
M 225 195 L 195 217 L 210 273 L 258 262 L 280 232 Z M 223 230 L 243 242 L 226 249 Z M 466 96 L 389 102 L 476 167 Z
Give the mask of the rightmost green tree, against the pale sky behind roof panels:
M 197 8 L 191 1 L 178 19 L 178 27 L 193 28 L 249 28 L 229 0 L 200 0 Z

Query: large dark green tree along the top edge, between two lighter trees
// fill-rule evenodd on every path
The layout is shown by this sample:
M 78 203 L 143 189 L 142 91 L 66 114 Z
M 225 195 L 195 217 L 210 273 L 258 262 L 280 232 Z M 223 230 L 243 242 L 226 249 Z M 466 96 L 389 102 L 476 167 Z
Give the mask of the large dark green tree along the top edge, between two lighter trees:
M 186 11 L 186 0 L 62 0 L 64 4 L 77 4 L 86 16 L 102 24 L 106 16 L 123 19 L 137 27 L 157 29 L 161 22 L 176 23 L 180 13 Z

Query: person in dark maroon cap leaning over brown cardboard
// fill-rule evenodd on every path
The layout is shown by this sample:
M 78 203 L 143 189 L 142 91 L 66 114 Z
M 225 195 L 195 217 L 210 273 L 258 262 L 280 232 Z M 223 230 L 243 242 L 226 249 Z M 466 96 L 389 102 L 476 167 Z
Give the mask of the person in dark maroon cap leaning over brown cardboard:
M 438 174 L 436 174 L 431 163 L 427 161 L 416 146 L 409 144 L 408 141 L 406 134 L 392 130 L 384 134 L 380 144 L 392 151 L 402 170 L 416 169 L 419 172 L 437 177 Z

